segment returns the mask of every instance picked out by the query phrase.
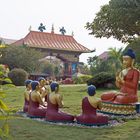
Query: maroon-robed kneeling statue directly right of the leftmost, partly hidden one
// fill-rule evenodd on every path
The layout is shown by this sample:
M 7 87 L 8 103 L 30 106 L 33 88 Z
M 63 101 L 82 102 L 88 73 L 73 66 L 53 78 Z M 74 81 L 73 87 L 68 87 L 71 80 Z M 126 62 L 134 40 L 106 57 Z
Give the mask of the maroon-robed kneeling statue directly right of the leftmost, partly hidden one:
M 45 118 L 47 107 L 40 94 L 40 84 L 38 81 L 31 82 L 32 92 L 29 95 L 28 116 Z

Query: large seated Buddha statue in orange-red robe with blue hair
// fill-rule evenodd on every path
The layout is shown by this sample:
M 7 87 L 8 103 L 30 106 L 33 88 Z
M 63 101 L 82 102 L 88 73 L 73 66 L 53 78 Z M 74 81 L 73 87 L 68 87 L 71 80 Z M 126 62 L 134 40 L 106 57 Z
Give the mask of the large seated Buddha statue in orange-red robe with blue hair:
M 116 86 L 119 92 L 106 92 L 101 95 L 101 100 L 117 104 L 132 104 L 138 101 L 138 82 L 140 72 L 134 68 L 135 52 L 128 49 L 123 54 L 124 69 L 116 75 Z

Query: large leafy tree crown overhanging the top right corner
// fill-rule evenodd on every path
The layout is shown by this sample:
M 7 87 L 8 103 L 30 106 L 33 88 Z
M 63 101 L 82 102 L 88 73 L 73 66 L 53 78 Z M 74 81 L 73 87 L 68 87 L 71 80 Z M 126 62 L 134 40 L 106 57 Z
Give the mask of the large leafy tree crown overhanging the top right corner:
M 122 42 L 130 42 L 140 35 L 139 17 L 139 0 L 110 0 L 85 27 L 95 37 L 112 36 Z

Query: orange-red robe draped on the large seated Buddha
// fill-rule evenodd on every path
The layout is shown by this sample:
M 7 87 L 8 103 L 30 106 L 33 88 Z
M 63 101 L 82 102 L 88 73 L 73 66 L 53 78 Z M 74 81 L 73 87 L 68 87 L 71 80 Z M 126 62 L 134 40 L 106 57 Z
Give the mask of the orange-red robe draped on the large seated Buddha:
M 136 103 L 138 101 L 137 90 L 139 77 L 140 72 L 137 69 L 130 69 L 126 76 L 124 76 L 125 82 L 120 88 L 120 93 L 122 95 L 117 95 L 114 92 L 107 92 L 101 96 L 102 101 L 120 104 Z

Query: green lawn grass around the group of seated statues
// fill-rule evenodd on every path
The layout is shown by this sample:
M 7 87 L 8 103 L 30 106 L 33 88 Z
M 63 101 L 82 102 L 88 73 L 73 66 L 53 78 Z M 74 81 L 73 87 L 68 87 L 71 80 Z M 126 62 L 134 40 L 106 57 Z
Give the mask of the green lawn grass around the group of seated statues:
M 25 87 L 3 87 L 6 97 L 3 101 L 15 113 L 23 107 Z M 97 97 L 105 90 L 97 90 Z M 85 85 L 60 86 L 63 94 L 64 111 L 77 115 L 81 112 L 81 100 L 87 95 Z M 140 95 L 140 92 L 139 92 Z M 3 124 L 0 120 L 0 127 Z M 86 128 L 78 126 L 54 125 L 35 121 L 17 115 L 8 119 L 10 139 L 13 140 L 138 140 L 140 137 L 140 119 L 127 120 L 113 127 Z M 6 139 L 6 138 L 5 138 Z

